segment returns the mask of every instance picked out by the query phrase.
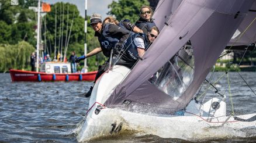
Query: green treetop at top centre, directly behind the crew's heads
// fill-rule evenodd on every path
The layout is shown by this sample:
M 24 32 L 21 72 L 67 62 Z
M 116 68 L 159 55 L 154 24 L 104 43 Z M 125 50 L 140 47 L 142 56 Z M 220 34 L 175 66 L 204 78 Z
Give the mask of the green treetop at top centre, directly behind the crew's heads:
M 111 10 L 108 15 L 115 15 L 117 20 L 129 19 L 135 23 L 139 18 L 140 7 L 143 5 L 149 5 L 147 0 L 119 0 L 113 1 L 108 8 Z

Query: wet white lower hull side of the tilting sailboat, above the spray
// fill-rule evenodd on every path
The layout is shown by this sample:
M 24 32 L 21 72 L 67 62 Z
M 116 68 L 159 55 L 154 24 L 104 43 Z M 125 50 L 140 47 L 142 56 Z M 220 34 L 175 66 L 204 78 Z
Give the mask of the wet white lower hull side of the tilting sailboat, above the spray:
M 237 116 L 248 119 L 256 114 Z M 122 131 L 134 130 L 143 134 L 158 135 L 162 138 L 181 138 L 183 140 L 196 140 L 202 138 L 246 137 L 241 130 L 254 128 L 256 121 L 236 121 L 230 117 L 222 127 L 227 116 L 218 117 L 212 122 L 206 121 L 207 117 L 199 116 L 150 116 L 139 113 L 125 112 L 117 109 L 102 109 L 99 115 L 92 115 L 85 120 L 78 133 L 78 141 L 87 141 L 92 138 L 102 137 L 117 133 L 120 123 Z M 116 123 L 113 129 L 112 124 Z

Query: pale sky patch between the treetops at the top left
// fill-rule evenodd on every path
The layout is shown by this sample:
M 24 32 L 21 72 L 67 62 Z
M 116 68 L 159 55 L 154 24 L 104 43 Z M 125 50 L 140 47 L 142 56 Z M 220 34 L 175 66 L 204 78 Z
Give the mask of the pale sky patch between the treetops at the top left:
M 106 13 L 109 12 L 108 5 L 112 3 L 112 1 L 113 0 L 87 0 L 87 15 L 90 16 L 92 13 L 99 13 L 102 15 L 102 19 L 104 19 L 107 16 Z M 77 5 L 82 17 L 85 15 L 85 0 L 44 0 L 43 2 L 50 4 L 56 2 L 72 3 Z

